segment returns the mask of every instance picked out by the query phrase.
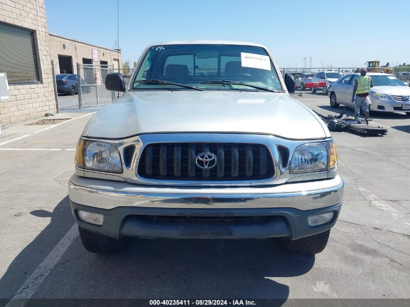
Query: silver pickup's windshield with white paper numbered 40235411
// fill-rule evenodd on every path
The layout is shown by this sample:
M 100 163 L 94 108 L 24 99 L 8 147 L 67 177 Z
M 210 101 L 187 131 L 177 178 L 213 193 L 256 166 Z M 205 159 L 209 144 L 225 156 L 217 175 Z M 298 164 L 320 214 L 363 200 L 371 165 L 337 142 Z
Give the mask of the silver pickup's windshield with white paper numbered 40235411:
M 151 47 L 131 84 L 131 90 L 193 90 L 161 80 L 203 90 L 282 91 L 278 74 L 266 50 L 237 45 L 164 45 Z M 211 83 L 234 81 L 245 84 Z

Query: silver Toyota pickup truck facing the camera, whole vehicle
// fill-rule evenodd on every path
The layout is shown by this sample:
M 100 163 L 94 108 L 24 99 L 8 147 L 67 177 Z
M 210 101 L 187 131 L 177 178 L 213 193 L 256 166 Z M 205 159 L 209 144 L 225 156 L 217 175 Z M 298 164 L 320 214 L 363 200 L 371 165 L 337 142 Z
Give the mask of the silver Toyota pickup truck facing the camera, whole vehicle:
M 86 125 L 68 184 L 88 251 L 130 237 L 325 248 L 342 206 L 336 147 L 265 47 L 155 44 L 127 86 L 119 73 L 105 84 L 124 94 Z

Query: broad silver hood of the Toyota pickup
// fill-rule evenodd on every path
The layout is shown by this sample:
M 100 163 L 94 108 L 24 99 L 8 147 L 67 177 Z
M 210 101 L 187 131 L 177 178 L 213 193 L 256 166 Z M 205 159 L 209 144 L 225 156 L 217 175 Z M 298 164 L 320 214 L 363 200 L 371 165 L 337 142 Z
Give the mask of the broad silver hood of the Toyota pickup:
M 323 121 L 288 93 L 240 91 L 128 92 L 96 113 L 82 135 L 120 139 L 156 132 L 330 136 Z

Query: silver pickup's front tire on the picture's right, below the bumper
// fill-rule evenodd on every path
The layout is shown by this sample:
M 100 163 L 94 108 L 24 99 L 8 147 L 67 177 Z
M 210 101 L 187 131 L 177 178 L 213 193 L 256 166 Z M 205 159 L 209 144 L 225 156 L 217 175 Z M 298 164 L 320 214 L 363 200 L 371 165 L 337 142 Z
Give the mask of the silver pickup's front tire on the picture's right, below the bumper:
M 294 241 L 283 239 L 282 246 L 288 252 L 300 255 L 314 255 L 322 252 L 329 240 L 330 229 L 317 235 L 300 238 Z

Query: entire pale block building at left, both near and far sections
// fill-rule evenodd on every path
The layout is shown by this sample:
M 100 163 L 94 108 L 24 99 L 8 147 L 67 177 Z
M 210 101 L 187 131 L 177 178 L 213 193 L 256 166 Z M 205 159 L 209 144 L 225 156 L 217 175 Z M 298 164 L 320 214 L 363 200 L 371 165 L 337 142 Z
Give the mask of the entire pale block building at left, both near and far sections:
M 9 98 L 0 100 L 0 125 L 56 113 L 55 74 L 77 73 L 77 63 L 121 65 L 120 50 L 50 34 L 44 0 L 0 0 L 0 74 Z

